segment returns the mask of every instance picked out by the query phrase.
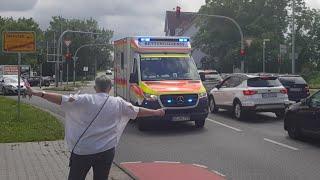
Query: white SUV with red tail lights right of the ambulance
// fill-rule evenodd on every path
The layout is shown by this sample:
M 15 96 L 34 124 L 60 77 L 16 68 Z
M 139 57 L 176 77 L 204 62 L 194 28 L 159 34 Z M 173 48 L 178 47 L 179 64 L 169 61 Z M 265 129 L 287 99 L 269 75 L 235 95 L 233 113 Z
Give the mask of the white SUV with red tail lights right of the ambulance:
M 248 112 L 274 112 L 282 118 L 288 105 L 287 89 L 268 75 L 232 74 L 209 94 L 212 113 L 219 108 L 232 110 L 238 120 Z

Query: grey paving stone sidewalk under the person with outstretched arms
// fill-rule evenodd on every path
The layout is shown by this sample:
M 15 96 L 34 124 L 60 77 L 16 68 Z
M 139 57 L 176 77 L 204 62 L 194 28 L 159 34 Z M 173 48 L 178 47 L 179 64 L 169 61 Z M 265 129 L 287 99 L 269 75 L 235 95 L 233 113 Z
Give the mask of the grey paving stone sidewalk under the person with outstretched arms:
M 69 152 L 64 141 L 0 144 L 0 180 L 64 180 Z M 92 179 L 92 169 L 86 180 Z M 109 180 L 131 180 L 113 165 Z

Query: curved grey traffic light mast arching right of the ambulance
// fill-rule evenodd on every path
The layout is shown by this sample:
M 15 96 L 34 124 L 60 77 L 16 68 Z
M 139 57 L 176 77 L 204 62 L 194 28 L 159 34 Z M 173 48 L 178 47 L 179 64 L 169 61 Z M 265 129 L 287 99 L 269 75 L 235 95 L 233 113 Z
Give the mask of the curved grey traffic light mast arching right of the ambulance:
M 240 44 L 240 52 L 244 52 L 244 35 L 243 35 L 243 31 L 241 29 L 241 26 L 239 25 L 239 23 L 237 23 L 236 20 L 230 18 L 230 17 L 227 17 L 227 16 L 221 16 L 221 15 L 213 15 L 213 14 L 201 14 L 201 13 L 192 13 L 192 12 L 185 12 L 186 14 L 195 14 L 197 16 L 204 16 L 204 17 L 215 17 L 215 18 L 220 18 L 220 19 L 227 19 L 229 21 L 231 21 L 234 25 L 236 25 L 237 29 L 239 30 L 239 33 L 240 33 L 240 38 L 241 38 L 241 44 Z M 243 59 L 243 56 L 242 55 L 242 58 L 241 58 L 241 72 L 244 73 L 244 59 Z

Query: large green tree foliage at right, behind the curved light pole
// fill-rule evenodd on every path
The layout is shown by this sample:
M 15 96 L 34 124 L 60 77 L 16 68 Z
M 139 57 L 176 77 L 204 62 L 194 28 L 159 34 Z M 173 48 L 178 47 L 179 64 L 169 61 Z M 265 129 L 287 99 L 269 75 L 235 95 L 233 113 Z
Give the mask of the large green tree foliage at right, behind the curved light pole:
M 291 0 L 207 0 L 199 10 L 203 14 L 224 15 L 235 19 L 244 31 L 245 39 L 252 40 L 246 46 L 247 72 L 262 71 L 263 39 L 266 43 L 266 69 L 268 72 L 290 72 L 289 55 L 279 61 L 280 44 L 291 43 Z M 319 60 L 319 11 L 306 7 L 305 0 L 296 0 L 297 70 L 318 64 Z M 240 36 L 236 27 L 227 20 L 201 18 L 200 29 L 194 46 L 209 55 L 211 67 L 232 72 L 240 66 Z M 213 61 L 218 59 L 218 61 Z M 320 68 L 320 67 L 319 67 Z

